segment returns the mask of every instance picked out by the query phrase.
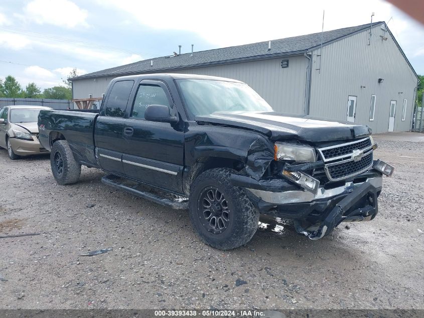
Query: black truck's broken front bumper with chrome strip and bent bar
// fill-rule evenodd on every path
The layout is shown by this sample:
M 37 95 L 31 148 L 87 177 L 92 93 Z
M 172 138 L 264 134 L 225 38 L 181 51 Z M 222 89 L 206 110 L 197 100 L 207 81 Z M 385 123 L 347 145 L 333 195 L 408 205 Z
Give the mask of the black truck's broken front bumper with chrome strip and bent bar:
M 231 179 L 238 186 L 246 181 L 235 175 Z M 331 233 L 341 222 L 374 219 L 378 212 L 377 197 L 382 188 L 382 174 L 370 170 L 345 181 L 343 185 L 321 187 L 317 194 L 283 179 L 271 183 L 273 191 L 264 189 L 269 181 L 253 181 L 244 188 L 261 214 L 294 220 L 298 233 L 316 240 Z

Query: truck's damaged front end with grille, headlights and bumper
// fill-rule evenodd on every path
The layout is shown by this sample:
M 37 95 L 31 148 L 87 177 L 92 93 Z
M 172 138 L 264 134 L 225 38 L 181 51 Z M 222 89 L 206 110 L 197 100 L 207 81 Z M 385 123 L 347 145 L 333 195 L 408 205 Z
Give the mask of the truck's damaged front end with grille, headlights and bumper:
M 315 160 L 307 149 L 290 158 L 294 147 L 278 160 L 276 149 L 268 175 L 233 174 L 231 182 L 247 190 L 261 214 L 294 220 L 298 233 L 318 240 L 341 222 L 370 221 L 377 215 L 382 175 L 391 176 L 394 168 L 373 160 L 376 147 L 371 137 L 309 147 Z

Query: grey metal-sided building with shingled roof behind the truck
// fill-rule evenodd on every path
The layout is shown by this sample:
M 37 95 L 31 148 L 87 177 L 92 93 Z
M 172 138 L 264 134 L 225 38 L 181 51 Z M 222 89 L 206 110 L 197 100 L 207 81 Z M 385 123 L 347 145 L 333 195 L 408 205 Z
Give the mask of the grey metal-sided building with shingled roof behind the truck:
M 417 75 L 384 22 L 158 57 L 72 78 L 73 98 L 101 97 L 117 76 L 189 73 L 235 78 L 276 112 L 409 131 Z

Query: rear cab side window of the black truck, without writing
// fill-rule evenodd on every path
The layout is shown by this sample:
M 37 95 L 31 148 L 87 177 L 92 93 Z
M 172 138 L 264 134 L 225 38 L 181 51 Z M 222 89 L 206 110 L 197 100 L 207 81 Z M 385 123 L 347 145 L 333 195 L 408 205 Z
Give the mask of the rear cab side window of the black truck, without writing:
M 133 80 L 122 80 L 113 84 L 105 104 L 105 116 L 123 117 L 125 115 L 126 104 L 133 84 Z

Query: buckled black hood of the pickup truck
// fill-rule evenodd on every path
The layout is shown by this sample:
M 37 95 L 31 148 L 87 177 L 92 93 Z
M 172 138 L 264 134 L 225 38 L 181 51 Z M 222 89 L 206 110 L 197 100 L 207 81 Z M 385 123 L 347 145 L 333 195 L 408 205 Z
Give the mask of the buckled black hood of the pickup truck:
M 216 112 L 209 116 L 196 116 L 196 121 L 256 130 L 272 141 L 297 139 L 323 142 L 349 140 L 371 134 L 367 126 L 276 112 Z

